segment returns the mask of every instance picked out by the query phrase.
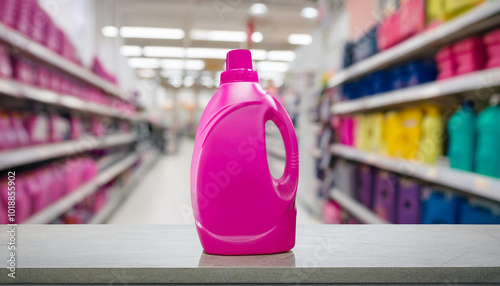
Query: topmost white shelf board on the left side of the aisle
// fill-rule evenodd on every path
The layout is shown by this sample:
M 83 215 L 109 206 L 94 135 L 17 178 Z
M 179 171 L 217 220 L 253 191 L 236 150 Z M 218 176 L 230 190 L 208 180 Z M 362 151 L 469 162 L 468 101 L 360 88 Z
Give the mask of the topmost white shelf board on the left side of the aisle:
M 39 43 L 28 39 L 21 33 L 5 26 L 2 23 L 0 23 L 0 40 L 23 51 L 24 53 L 29 54 L 30 56 L 36 57 L 52 66 L 55 66 L 75 76 L 76 78 L 86 81 L 115 97 L 129 101 L 118 87 L 96 76 L 90 70 L 63 58 Z

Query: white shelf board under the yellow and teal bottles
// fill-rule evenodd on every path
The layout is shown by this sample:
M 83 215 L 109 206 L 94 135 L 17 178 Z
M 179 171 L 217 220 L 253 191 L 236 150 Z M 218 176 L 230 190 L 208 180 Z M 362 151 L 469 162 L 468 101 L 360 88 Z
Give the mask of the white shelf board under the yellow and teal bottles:
M 500 179 L 334 144 L 334 155 L 500 202 Z

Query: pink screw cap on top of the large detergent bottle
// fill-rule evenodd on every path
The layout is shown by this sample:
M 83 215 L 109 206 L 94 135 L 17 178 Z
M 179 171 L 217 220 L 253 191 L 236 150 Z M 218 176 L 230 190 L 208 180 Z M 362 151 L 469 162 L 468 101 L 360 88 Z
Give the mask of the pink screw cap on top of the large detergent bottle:
M 220 75 L 220 84 L 229 82 L 259 82 L 257 72 L 252 68 L 252 54 L 249 50 L 232 50 L 226 56 L 226 71 Z

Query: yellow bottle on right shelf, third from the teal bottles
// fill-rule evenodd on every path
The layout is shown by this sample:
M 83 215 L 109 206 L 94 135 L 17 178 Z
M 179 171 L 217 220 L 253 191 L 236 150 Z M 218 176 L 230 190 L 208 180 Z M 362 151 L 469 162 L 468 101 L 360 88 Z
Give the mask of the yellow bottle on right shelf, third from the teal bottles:
M 402 125 L 399 113 L 389 111 L 384 116 L 383 141 L 385 148 L 383 153 L 398 157 L 401 155 L 401 131 Z

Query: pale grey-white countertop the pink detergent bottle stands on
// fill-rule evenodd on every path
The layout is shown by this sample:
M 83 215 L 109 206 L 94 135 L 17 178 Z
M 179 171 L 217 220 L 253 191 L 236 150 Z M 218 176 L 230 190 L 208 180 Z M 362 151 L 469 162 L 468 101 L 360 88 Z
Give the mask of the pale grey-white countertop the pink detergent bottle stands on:
M 21 225 L 0 283 L 500 283 L 500 226 L 299 226 L 292 251 L 203 253 L 194 226 Z

